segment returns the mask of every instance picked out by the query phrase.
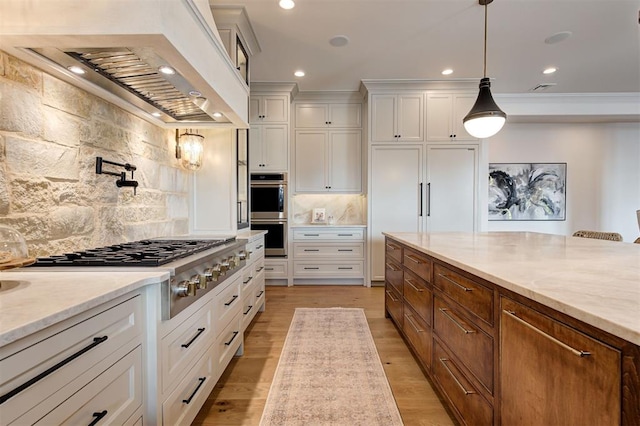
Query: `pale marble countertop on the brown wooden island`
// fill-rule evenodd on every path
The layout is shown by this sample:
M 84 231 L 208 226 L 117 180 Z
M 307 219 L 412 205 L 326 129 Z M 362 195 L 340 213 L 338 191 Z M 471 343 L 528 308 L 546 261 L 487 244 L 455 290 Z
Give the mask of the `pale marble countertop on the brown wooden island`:
M 384 232 L 640 345 L 640 244 L 530 232 Z

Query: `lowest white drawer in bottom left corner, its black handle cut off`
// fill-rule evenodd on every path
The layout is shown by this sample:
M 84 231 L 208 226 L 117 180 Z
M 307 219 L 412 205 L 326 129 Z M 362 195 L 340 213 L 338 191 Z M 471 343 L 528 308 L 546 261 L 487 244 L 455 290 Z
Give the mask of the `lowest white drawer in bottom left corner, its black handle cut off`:
M 140 346 L 35 424 L 124 424 L 142 405 Z

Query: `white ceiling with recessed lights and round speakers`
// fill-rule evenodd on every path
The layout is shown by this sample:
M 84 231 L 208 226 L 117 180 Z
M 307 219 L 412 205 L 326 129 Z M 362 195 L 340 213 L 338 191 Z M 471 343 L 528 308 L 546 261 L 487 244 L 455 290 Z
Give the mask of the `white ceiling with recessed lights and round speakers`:
M 478 0 L 211 0 L 244 6 L 260 44 L 254 82 L 301 91 L 358 90 L 363 79 L 482 77 Z M 640 92 L 639 0 L 495 0 L 488 6 L 487 75 L 494 93 Z M 560 31 L 571 37 L 545 39 Z M 344 47 L 329 39 L 349 37 Z M 548 66 L 558 72 L 542 74 Z M 444 68 L 454 73 L 444 77 Z M 303 78 L 293 72 L 302 69 Z

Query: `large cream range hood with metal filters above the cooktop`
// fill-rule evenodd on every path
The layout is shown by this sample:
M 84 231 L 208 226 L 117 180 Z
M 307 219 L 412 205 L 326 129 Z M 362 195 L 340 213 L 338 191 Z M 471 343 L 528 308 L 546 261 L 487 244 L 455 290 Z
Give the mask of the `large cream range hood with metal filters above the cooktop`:
M 2 0 L 0 50 L 164 128 L 249 127 L 207 0 Z

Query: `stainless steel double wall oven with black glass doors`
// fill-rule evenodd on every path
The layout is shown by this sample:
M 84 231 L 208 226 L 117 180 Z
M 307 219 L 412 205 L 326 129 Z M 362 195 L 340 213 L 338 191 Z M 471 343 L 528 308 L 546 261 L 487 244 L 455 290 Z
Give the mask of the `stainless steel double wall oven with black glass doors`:
M 287 174 L 251 174 L 251 229 L 268 231 L 265 256 L 287 256 Z

